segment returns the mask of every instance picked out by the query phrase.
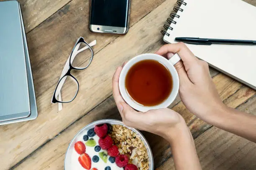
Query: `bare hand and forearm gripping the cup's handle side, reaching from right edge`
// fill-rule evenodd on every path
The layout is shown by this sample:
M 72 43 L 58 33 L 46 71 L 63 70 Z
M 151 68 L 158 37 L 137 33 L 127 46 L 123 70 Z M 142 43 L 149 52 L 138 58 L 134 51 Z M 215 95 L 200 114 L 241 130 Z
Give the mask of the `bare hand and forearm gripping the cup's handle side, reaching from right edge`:
M 256 116 L 223 104 L 207 63 L 198 60 L 184 43 L 164 45 L 156 52 L 167 58 L 174 53 L 182 59 L 175 67 L 180 80 L 179 95 L 184 105 L 205 122 L 256 143 Z

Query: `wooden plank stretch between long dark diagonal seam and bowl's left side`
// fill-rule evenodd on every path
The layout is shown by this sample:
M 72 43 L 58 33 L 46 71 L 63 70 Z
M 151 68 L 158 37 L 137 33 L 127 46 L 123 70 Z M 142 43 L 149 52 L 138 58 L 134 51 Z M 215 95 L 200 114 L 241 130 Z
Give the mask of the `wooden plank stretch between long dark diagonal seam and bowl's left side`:
M 85 125 L 100 119 L 121 120 L 113 97 L 109 97 L 14 169 L 63 170 L 65 152 L 74 135 Z

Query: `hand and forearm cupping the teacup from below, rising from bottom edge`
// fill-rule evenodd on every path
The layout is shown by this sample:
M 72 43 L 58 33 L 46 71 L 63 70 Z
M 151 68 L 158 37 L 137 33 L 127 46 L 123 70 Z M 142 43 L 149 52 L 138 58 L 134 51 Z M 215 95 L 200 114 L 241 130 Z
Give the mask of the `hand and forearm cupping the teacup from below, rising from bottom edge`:
M 172 148 L 177 170 L 202 170 L 195 150 L 194 140 L 183 117 L 171 109 L 137 112 L 123 100 L 118 80 L 122 67 L 113 77 L 113 96 L 125 125 L 160 135 L 168 140 Z

